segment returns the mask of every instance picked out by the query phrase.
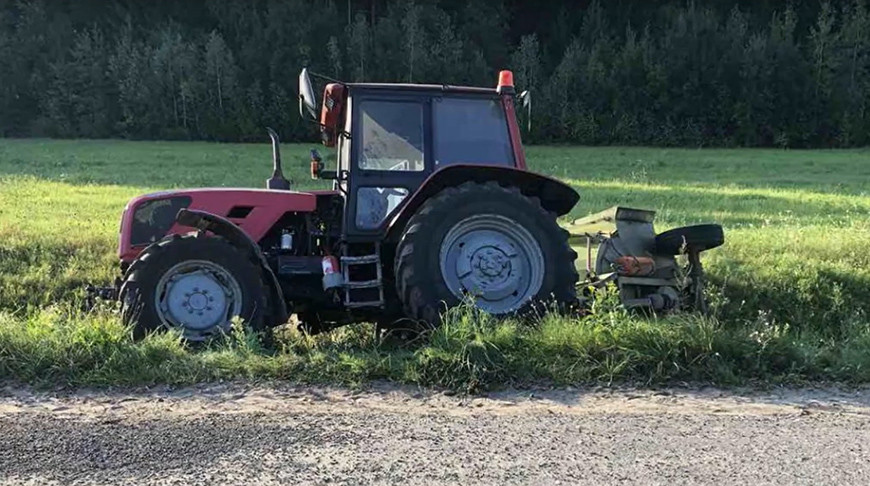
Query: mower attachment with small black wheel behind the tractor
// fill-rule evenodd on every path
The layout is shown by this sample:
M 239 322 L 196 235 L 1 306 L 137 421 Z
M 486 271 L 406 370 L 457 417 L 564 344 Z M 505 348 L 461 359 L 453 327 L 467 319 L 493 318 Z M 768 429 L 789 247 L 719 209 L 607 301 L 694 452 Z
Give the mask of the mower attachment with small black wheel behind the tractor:
M 615 206 L 566 226 L 581 255 L 577 266 L 586 275 L 586 297 L 612 282 L 627 308 L 706 312 L 699 254 L 724 243 L 722 227 L 689 226 L 656 235 L 654 219 L 654 211 Z M 678 264 L 680 254 L 687 265 Z

